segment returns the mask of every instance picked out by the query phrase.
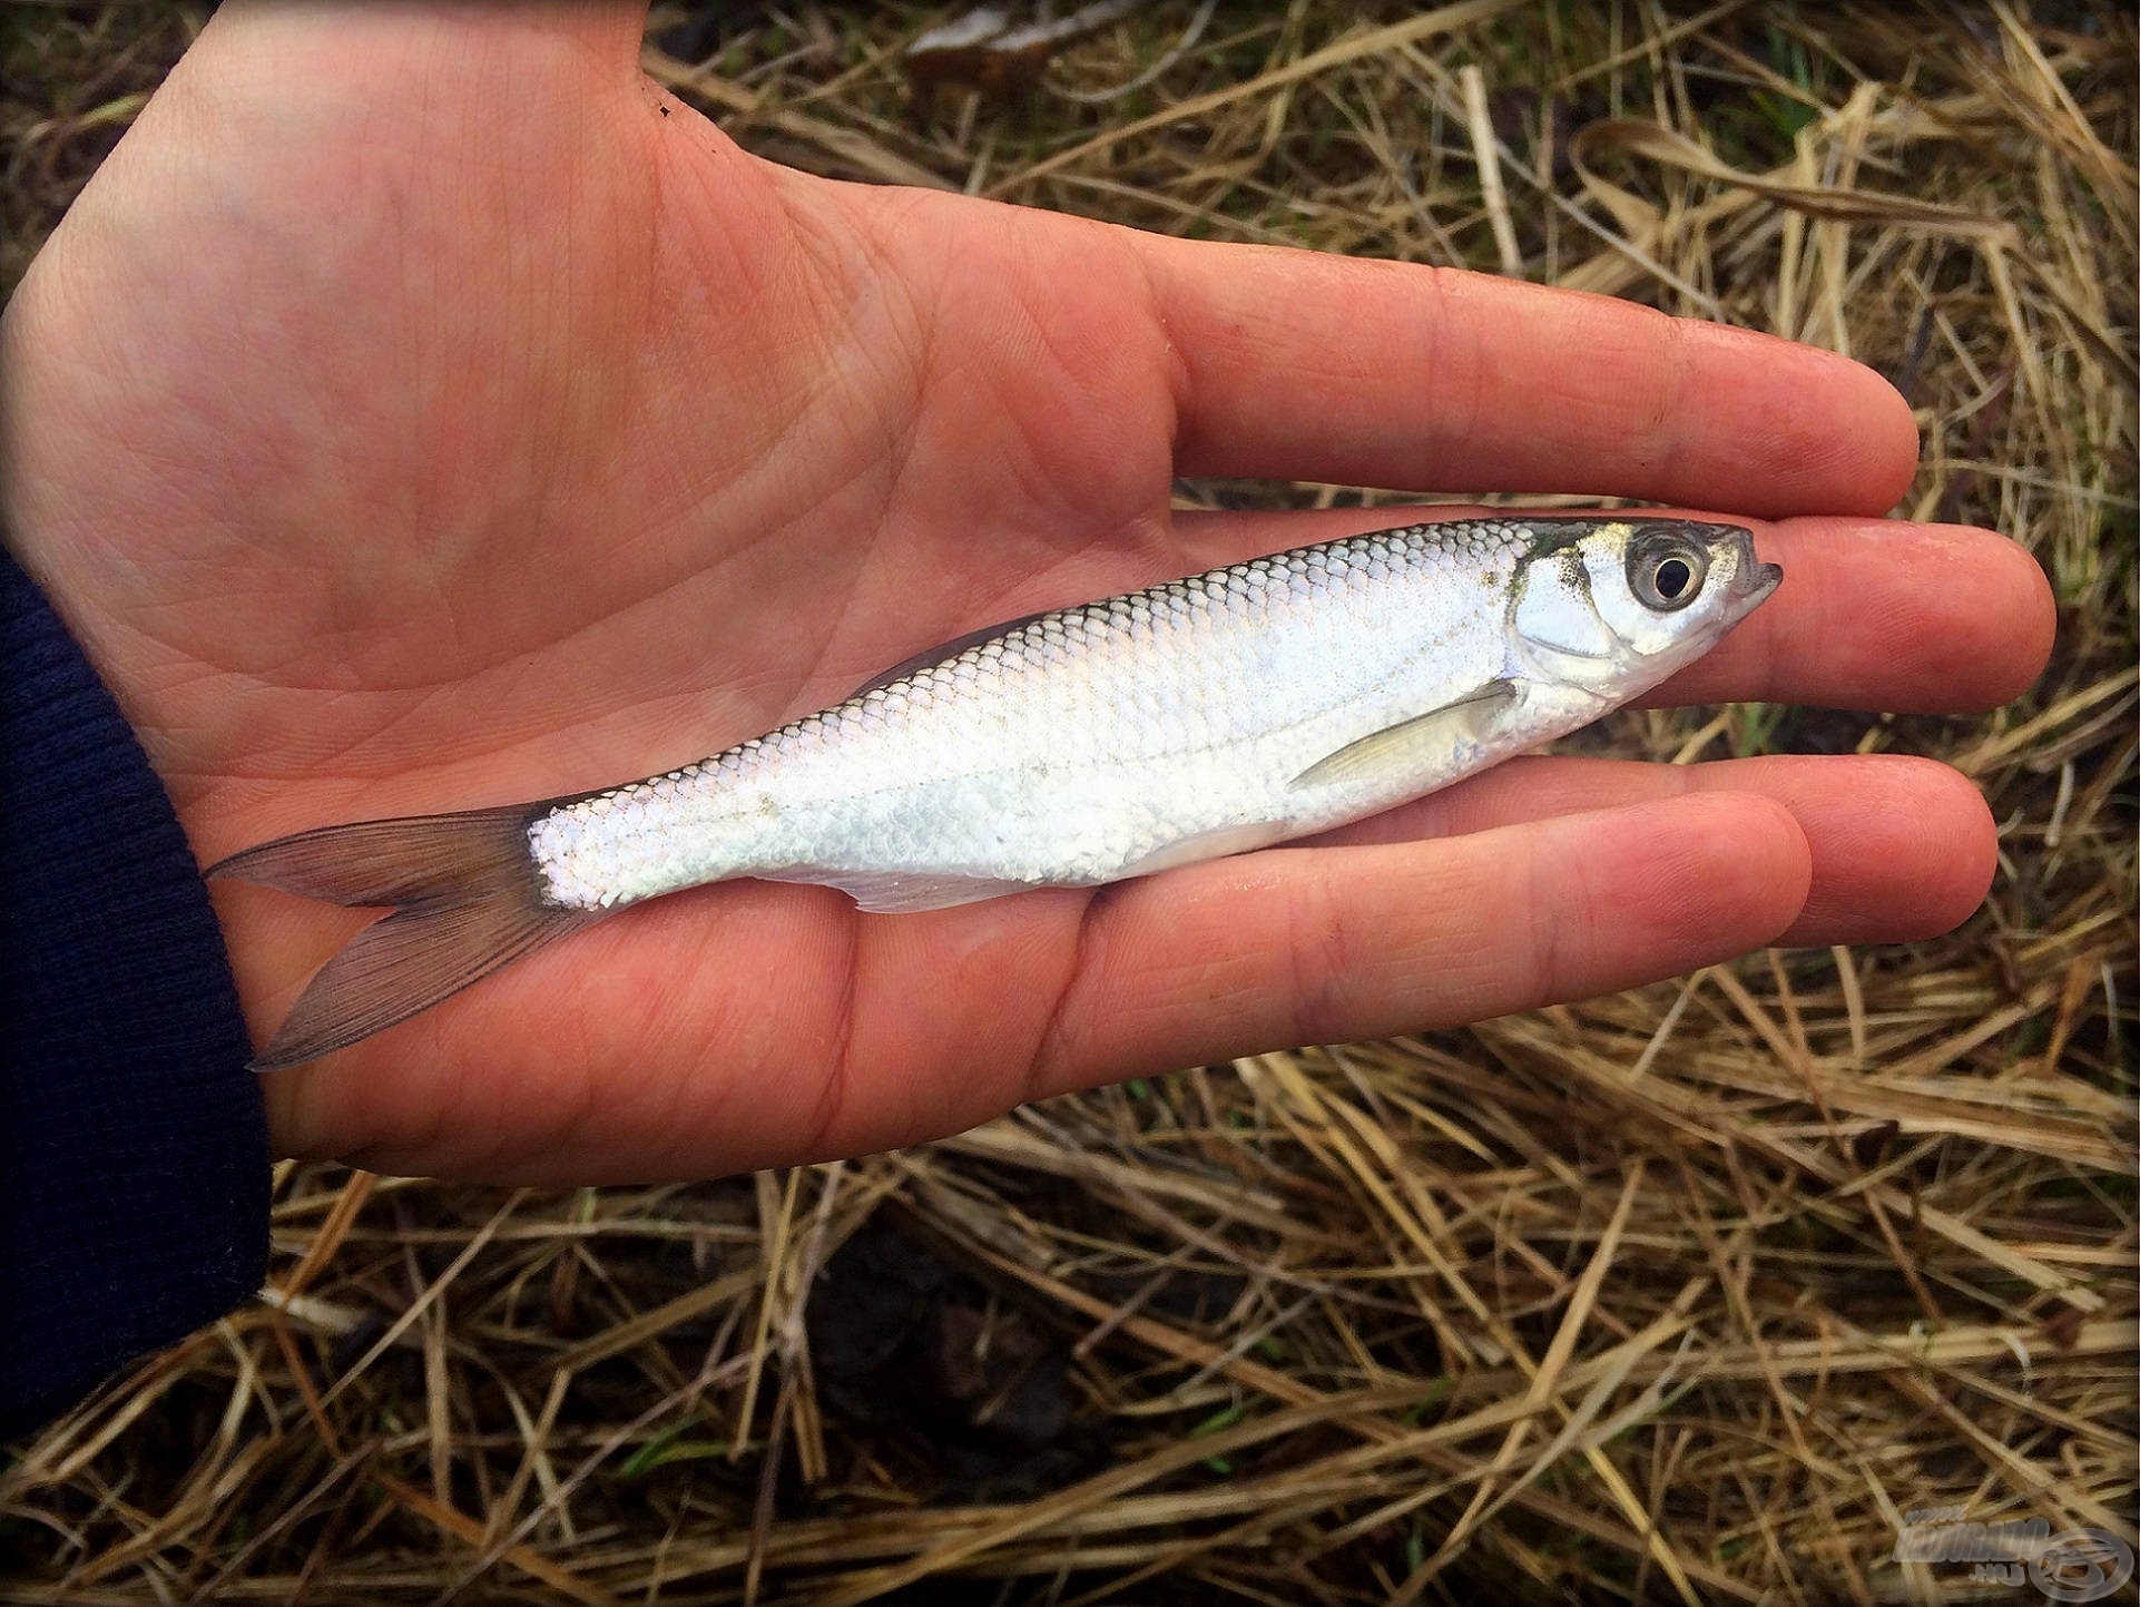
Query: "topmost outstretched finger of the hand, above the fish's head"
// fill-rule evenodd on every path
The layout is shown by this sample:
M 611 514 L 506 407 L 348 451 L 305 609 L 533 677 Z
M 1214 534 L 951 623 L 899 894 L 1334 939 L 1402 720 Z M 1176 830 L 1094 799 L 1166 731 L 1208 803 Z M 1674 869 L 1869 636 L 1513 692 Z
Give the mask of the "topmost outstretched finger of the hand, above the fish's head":
M 1421 263 L 1138 235 L 1177 473 L 1881 514 L 1917 426 L 1832 351 Z

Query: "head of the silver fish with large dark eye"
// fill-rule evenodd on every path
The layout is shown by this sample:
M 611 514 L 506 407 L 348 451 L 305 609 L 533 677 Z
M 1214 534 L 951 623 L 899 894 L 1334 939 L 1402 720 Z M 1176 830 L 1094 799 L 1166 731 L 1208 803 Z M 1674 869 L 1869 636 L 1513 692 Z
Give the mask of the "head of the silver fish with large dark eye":
M 1534 674 L 1618 702 L 1699 659 L 1780 582 L 1740 524 L 1539 522 L 1509 625 Z

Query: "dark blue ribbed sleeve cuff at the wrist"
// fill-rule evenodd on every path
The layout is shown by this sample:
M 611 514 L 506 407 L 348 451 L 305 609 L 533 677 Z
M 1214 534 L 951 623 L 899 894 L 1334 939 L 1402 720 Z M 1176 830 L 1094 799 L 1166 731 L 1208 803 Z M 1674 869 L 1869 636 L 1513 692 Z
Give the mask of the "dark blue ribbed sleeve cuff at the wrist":
M 0 552 L 0 1438 L 261 1286 L 268 1126 L 148 755 Z

